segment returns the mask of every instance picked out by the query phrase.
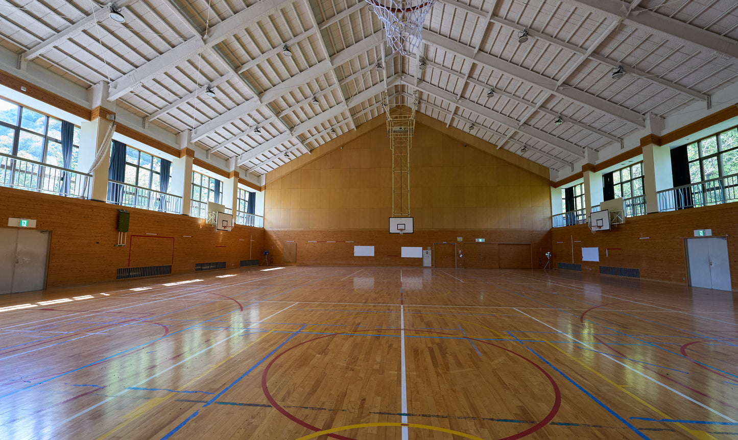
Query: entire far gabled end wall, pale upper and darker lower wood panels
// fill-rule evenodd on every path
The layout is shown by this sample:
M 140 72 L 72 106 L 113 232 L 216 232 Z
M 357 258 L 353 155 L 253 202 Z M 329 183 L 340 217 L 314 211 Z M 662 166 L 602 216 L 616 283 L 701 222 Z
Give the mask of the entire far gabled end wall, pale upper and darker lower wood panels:
M 551 249 L 548 170 L 492 144 L 465 146 L 468 133 L 422 117 L 410 151 L 415 232 L 390 234 L 392 152 L 379 122 L 303 156 L 301 167 L 291 162 L 292 171 L 280 167 L 266 176 L 264 221 L 275 264 L 284 264 L 287 242 L 297 245 L 298 265 L 421 266 L 421 258 L 402 258 L 401 247 L 448 242 L 463 254 L 466 244 L 484 238 L 525 244 L 530 268 L 530 245 L 541 256 Z M 354 257 L 354 245 L 374 245 L 375 256 Z M 477 260 L 472 266 L 497 267 Z M 466 260 L 458 258 L 457 265 L 465 267 Z

